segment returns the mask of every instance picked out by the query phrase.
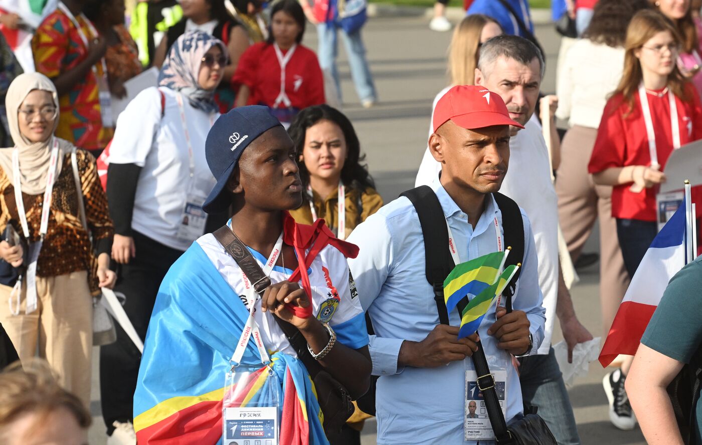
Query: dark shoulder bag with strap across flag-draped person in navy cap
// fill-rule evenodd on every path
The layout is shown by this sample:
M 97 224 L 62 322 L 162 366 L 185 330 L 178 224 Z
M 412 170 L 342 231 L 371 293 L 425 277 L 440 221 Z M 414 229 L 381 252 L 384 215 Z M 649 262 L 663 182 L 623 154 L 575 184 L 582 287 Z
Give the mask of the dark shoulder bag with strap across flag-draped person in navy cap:
M 226 225 L 220 227 L 213 234 L 217 241 L 222 244 L 225 251 L 241 267 L 246 277 L 249 277 L 256 292 L 263 295 L 263 291 L 271 284 L 270 278 L 263 273 L 249 249 L 237 237 L 234 237 L 234 234 Z M 350 393 L 344 385 L 325 371 L 322 365 L 312 357 L 310 351 L 307 350 L 307 340 L 295 326 L 278 317 L 273 316 L 273 318 L 285 333 L 290 345 L 297 352 L 298 359 L 303 362 L 307 372 L 310 373 L 314 387 L 317 389 L 319 407 L 322 408 L 322 413 L 324 414 L 324 432 L 328 435 L 339 432 L 355 409 Z M 314 413 L 312 414 L 314 415 Z

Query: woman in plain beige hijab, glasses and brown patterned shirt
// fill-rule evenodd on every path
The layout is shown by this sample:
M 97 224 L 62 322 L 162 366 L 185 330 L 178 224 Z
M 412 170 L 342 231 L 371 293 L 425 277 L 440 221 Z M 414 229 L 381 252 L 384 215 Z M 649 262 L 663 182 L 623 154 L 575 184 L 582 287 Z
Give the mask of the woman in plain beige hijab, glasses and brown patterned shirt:
M 33 357 L 38 345 L 59 383 L 88 406 L 92 295 L 115 280 L 108 270 L 113 229 L 107 199 L 93 155 L 54 136 L 58 95 L 47 77 L 21 74 L 5 103 L 15 147 L 0 149 L 0 227 L 11 225 L 29 252 L 21 243 L 0 242 L 0 258 L 26 275 L 14 287 L 0 284 L 0 323 L 20 360 Z M 34 265 L 32 253 L 38 254 Z

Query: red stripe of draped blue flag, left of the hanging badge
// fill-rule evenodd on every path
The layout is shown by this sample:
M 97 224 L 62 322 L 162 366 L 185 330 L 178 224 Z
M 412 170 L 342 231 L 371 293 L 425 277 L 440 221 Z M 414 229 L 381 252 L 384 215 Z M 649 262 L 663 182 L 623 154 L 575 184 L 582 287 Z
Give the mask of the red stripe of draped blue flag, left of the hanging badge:
M 222 437 L 222 401 L 201 401 L 136 433 L 138 444 L 216 444 Z

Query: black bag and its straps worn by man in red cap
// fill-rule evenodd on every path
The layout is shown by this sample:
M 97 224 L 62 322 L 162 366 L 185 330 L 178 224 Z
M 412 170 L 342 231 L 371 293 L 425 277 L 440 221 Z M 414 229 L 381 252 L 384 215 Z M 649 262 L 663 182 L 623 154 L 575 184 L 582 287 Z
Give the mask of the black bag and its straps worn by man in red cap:
M 524 256 L 524 226 L 522 225 L 522 213 L 519 206 L 512 199 L 503 194 L 494 193 L 495 201 L 502 212 L 503 229 L 505 232 L 505 246 L 512 246 L 512 252 L 506 264 L 522 263 Z M 446 311 L 444 303 L 444 279 L 453 270 L 453 258 L 446 248 L 449 244 L 449 231 L 444 223 L 441 203 L 434 191 L 423 185 L 404 192 L 402 196 L 407 197 L 416 208 L 419 216 L 419 223 L 422 226 L 424 236 L 424 249 L 426 257 L 427 280 L 434 290 L 434 300 L 439 312 L 439 321 L 442 324 L 449 324 L 449 313 Z M 518 227 L 517 227 L 518 226 Z M 517 238 L 521 233 L 521 239 Z M 508 234 L 510 238 L 508 239 Z M 512 238 L 514 237 L 514 238 Z M 509 243 L 509 244 L 508 244 Z M 512 311 L 512 295 L 515 293 L 518 275 L 512 278 L 510 284 L 505 288 L 505 307 L 508 312 Z M 463 307 L 465 307 L 465 301 Z M 458 305 L 459 311 L 462 309 L 461 303 Z M 478 376 L 478 387 L 482 392 L 485 406 L 490 417 L 490 424 L 495 433 L 498 445 L 557 445 L 556 439 L 548 429 L 543 419 L 536 413 L 528 413 L 526 416 L 513 420 L 510 425 L 505 422 L 500 409 L 497 392 L 495 391 L 495 380 L 490 373 L 482 343 L 478 342 L 478 350 L 473 352 L 472 360 Z

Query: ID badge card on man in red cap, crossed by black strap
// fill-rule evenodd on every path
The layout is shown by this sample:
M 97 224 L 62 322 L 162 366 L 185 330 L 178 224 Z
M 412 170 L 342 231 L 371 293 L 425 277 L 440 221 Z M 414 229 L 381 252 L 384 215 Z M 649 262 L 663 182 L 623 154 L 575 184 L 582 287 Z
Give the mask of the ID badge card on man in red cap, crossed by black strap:
M 495 379 L 495 391 L 500 401 L 502 414 L 505 416 L 507 401 L 507 371 L 493 370 L 492 376 Z M 475 371 L 465 371 L 465 413 L 463 420 L 463 433 L 465 440 L 494 440 L 495 434 L 492 431 L 490 416 L 487 406 L 477 384 L 478 375 Z

